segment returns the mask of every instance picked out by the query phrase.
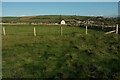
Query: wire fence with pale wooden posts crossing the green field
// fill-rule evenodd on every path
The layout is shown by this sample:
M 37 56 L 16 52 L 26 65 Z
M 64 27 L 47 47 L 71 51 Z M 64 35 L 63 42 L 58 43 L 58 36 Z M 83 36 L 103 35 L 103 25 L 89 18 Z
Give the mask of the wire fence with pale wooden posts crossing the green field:
M 82 29 L 85 28 L 85 29 Z M 74 33 L 81 33 L 81 34 L 89 34 L 88 30 L 97 30 L 97 31 L 105 31 L 105 34 L 116 33 L 119 34 L 119 26 L 118 24 L 113 27 L 104 27 L 104 26 L 80 26 L 80 27 L 69 27 L 69 26 L 59 26 L 59 27 L 38 27 L 38 26 L 3 26 L 2 27 L 2 34 L 6 35 L 60 35 L 63 36 L 65 34 L 74 34 Z

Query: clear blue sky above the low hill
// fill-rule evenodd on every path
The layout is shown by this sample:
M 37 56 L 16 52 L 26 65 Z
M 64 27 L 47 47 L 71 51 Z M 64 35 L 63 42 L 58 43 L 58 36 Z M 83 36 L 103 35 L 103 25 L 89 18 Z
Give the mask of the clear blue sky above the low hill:
M 117 2 L 3 2 L 2 16 L 80 15 L 114 17 Z

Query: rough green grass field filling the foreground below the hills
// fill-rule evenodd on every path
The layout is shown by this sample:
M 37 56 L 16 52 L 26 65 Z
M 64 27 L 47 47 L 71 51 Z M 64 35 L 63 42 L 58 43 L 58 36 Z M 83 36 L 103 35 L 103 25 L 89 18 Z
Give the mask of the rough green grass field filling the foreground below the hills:
M 120 35 L 79 27 L 4 26 L 3 78 L 120 79 Z M 37 36 L 33 36 L 36 27 Z

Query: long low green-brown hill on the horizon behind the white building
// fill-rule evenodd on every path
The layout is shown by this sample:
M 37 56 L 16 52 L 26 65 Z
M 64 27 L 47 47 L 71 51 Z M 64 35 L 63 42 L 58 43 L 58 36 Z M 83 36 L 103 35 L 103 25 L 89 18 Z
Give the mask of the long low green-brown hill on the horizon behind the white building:
M 60 23 L 65 20 L 66 23 L 77 23 L 78 21 L 94 21 L 95 24 L 104 23 L 112 25 L 117 23 L 117 18 L 76 16 L 76 15 L 41 15 L 41 16 L 24 16 L 24 17 L 3 17 L 3 23 Z

